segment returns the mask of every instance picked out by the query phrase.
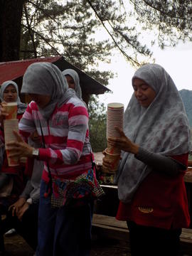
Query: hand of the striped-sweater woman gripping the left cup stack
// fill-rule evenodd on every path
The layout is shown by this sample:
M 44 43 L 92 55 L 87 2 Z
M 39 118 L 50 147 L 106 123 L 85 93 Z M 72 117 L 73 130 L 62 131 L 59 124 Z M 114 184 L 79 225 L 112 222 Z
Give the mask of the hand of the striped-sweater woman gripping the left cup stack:
M 9 157 L 33 157 L 33 147 L 23 141 L 18 132 L 14 131 L 17 142 L 9 142 L 6 149 L 9 151 Z

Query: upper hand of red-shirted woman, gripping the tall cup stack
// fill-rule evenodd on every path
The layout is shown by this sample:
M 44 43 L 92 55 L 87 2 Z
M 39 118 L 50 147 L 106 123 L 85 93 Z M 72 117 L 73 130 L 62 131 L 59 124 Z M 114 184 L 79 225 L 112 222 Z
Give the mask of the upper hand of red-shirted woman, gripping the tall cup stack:
M 109 144 L 116 147 L 117 149 L 121 149 L 132 154 L 137 154 L 139 151 L 139 146 L 127 138 L 122 129 L 117 127 L 115 129 L 117 129 L 119 132 L 120 137 L 108 137 L 107 141 Z

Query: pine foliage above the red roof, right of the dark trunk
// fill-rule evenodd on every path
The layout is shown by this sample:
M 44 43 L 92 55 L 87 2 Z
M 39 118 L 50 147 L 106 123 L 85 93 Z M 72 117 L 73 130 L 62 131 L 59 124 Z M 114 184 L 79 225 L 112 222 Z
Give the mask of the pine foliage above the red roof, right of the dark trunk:
M 139 65 L 137 53 L 151 53 L 138 41 L 136 27 L 125 25 L 127 17 L 121 5 L 112 0 L 26 1 L 21 58 L 28 58 L 27 53 L 34 58 L 48 53 L 63 55 L 88 73 L 101 61 L 110 62 L 112 50 L 118 48 L 129 61 Z

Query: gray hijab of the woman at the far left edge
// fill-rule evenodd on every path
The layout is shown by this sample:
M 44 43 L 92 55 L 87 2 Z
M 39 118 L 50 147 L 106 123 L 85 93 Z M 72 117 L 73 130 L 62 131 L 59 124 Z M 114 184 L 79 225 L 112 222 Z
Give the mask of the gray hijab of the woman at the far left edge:
M 8 80 L 6 82 L 3 82 L 0 88 L 0 99 L 1 102 L 4 101 L 4 90 L 6 90 L 6 87 L 8 87 L 9 85 L 13 85 L 16 88 L 16 92 L 17 92 L 17 113 L 18 114 L 23 114 L 26 110 L 27 104 L 26 103 L 22 103 L 20 100 L 20 97 L 18 96 L 18 85 L 16 84 L 16 82 Z

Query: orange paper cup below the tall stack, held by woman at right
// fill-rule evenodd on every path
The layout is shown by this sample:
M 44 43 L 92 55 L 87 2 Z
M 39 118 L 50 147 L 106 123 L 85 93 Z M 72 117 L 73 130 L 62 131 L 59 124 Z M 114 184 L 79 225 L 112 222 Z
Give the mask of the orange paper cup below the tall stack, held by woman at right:
M 105 149 L 105 157 L 107 161 L 110 162 L 111 168 L 106 169 L 104 166 L 102 166 L 102 171 L 107 174 L 113 174 L 118 169 L 120 154 L 110 154 L 109 152 L 107 152 L 107 149 Z

